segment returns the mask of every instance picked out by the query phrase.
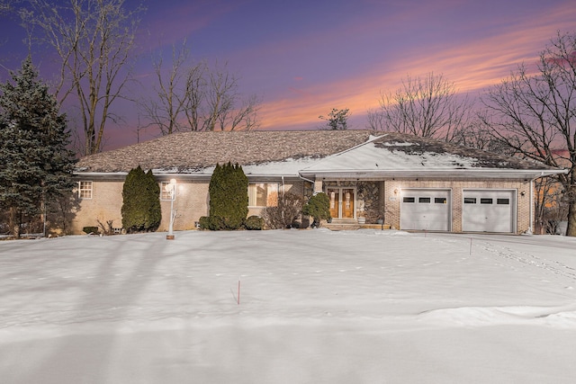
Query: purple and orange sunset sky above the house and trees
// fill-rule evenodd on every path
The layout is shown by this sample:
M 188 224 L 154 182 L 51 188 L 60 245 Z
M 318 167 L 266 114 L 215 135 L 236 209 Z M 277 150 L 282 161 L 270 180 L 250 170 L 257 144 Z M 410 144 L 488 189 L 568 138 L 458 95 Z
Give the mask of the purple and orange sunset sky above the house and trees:
M 129 0 L 128 7 L 139 4 Z M 518 64 L 536 63 L 557 31 L 576 31 L 574 0 L 188 0 L 144 1 L 136 74 L 150 55 L 185 39 L 193 59 L 228 62 L 240 92 L 257 94 L 260 129 L 317 129 L 319 115 L 349 108 L 352 128 L 406 76 L 442 74 L 481 94 Z M 4 17 L 4 16 L 3 16 Z M 5 17 L 4 17 L 5 19 Z M 0 27 L 0 79 L 26 54 L 16 23 Z M 41 55 L 34 64 L 44 67 Z M 136 108 L 108 129 L 106 148 L 137 141 Z M 149 133 L 152 138 L 153 132 Z M 140 135 L 140 140 L 142 137 Z

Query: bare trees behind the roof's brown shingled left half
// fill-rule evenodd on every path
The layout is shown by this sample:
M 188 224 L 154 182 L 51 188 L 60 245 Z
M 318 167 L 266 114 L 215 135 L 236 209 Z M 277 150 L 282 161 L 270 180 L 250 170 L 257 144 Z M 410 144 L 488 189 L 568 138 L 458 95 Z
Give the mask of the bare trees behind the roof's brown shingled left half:
M 161 56 L 161 54 L 160 54 Z M 256 95 L 242 99 L 238 76 L 227 66 L 213 68 L 205 62 L 192 63 L 184 41 L 172 50 L 172 67 L 154 61 L 157 85 L 152 97 L 139 101 L 147 127 L 162 135 L 186 130 L 254 129 L 258 126 Z

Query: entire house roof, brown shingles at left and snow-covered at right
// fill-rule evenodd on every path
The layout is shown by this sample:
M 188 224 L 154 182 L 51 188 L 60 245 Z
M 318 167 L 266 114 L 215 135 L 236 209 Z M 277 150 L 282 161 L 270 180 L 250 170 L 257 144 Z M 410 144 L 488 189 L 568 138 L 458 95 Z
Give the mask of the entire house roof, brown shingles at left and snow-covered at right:
M 555 168 L 411 135 L 368 130 L 186 132 L 85 156 L 77 173 L 210 175 L 216 164 L 242 165 L 252 176 L 388 177 L 557 172 Z M 537 172 L 536 172 L 537 171 Z

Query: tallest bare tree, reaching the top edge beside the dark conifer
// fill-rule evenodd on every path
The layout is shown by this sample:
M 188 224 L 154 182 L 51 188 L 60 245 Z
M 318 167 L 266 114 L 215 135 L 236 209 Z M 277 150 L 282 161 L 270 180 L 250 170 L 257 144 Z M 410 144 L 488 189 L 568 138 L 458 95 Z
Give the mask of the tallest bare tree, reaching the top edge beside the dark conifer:
M 112 104 L 130 79 L 134 35 L 142 8 L 128 10 L 123 0 L 31 0 L 21 10 L 24 25 L 56 50 L 60 103 L 79 109 L 83 155 L 102 149 L 104 128 L 117 116 Z

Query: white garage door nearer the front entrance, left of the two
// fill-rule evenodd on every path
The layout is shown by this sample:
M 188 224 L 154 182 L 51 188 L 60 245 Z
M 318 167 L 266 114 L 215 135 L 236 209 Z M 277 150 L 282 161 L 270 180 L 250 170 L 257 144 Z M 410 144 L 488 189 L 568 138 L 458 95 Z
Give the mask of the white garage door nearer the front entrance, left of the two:
M 450 190 L 403 189 L 401 229 L 450 230 Z

